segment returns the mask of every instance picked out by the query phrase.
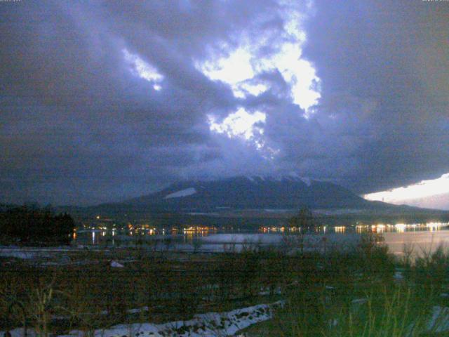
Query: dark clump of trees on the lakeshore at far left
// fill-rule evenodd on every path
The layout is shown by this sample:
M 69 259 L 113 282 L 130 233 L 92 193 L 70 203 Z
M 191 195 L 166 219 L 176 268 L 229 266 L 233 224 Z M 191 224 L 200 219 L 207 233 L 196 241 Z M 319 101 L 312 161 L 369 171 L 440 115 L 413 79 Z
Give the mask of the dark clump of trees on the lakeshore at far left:
M 69 214 L 55 214 L 51 209 L 19 206 L 0 211 L 1 241 L 9 244 L 69 244 L 74 227 Z

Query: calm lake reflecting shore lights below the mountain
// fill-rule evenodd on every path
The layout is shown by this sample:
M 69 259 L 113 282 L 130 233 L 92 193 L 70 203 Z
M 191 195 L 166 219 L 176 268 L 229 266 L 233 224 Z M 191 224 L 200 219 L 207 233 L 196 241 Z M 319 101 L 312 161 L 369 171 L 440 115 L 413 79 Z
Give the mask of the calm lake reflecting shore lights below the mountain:
M 141 246 L 155 250 L 223 252 L 241 251 L 255 246 L 294 246 L 308 249 L 342 248 L 358 244 L 363 233 L 380 234 L 391 253 L 401 256 L 404 249 L 413 253 L 449 248 L 449 224 L 356 225 L 320 227 L 313 234 L 295 235 L 284 227 L 259 227 L 253 231 L 217 230 L 190 227 L 181 232 L 171 230 L 78 230 L 74 244 L 78 246 Z M 297 233 L 296 233 L 297 234 Z M 300 240 L 301 242 L 299 242 Z

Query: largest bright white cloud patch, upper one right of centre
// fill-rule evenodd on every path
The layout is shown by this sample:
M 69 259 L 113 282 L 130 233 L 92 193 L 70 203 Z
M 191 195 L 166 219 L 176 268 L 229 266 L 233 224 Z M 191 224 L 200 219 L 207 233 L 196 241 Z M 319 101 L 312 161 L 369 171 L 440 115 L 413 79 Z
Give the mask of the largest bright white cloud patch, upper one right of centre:
M 305 110 L 309 117 L 311 107 L 321 98 L 319 77 L 311 62 L 302 59 L 302 46 L 307 40 L 300 22 L 304 15 L 295 8 L 286 7 L 283 13 L 283 34 L 276 37 L 276 52 L 260 56 L 267 39 L 245 41 L 225 55 L 203 62 L 196 68 L 213 81 L 223 81 L 231 86 L 236 98 L 260 95 L 269 89 L 267 83 L 257 79 L 263 72 L 279 71 L 290 86 L 293 103 Z

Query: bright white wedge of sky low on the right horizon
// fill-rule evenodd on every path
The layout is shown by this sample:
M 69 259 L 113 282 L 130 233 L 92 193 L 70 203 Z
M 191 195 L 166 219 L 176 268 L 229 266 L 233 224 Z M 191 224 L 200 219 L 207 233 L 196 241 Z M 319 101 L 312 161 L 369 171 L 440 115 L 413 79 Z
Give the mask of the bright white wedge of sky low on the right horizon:
M 407 204 L 407 201 L 434 197 L 449 193 L 449 173 L 434 180 L 422 180 L 415 185 L 398 187 L 393 190 L 366 194 L 368 200 L 389 202 L 391 204 Z

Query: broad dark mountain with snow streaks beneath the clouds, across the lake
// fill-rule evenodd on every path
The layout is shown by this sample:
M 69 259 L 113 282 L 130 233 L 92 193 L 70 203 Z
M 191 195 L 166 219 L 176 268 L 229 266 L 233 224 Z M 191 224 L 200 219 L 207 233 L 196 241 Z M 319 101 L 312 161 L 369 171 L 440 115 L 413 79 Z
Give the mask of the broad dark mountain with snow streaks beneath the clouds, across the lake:
M 278 178 L 239 176 L 210 181 L 184 181 L 159 192 L 130 199 L 123 209 L 211 212 L 225 209 L 379 209 L 398 207 L 367 201 L 333 183 L 295 176 Z

